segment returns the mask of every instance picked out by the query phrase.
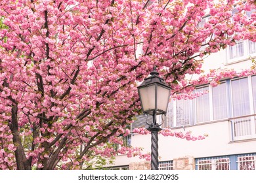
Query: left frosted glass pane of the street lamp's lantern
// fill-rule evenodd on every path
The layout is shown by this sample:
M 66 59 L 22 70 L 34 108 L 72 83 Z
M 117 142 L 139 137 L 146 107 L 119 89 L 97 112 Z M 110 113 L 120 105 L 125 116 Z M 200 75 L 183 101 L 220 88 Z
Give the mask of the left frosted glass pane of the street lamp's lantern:
M 140 88 L 140 99 L 143 105 L 143 110 L 150 110 L 155 108 L 155 85 Z

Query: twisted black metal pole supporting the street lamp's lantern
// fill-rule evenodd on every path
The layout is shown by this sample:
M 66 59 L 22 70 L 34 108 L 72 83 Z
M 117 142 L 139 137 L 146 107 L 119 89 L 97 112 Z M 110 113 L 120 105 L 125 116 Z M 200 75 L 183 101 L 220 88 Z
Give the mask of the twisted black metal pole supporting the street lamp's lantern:
M 158 170 L 158 131 L 160 125 L 156 123 L 156 112 L 153 114 L 153 124 L 148 127 L 151 131 L 151 169 Z

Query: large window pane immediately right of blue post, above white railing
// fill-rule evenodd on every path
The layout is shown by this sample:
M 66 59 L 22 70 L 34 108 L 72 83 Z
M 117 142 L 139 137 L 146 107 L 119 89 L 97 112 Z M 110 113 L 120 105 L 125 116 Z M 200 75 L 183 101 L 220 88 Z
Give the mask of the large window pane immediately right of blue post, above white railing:
M 232 80 L 231 84 L 234 117 L 250 114 L 249 89 L 247 78 Z

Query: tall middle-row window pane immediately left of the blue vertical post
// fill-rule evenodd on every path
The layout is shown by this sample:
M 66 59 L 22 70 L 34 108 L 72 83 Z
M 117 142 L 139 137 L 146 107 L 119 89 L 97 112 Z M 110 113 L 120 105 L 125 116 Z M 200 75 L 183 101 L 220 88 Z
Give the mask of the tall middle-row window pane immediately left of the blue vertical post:
M 226 82 L 224 82 L 213 88 L 213 119 L 228 118 L 227 111 Z

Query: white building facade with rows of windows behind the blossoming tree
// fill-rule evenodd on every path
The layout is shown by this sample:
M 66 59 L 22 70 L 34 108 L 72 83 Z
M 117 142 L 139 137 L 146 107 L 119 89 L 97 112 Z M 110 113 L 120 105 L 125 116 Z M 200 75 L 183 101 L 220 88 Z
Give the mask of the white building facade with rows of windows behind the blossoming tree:
M 209 69 L 242 71 L 252 66 L 254 58 L 255 42 L 240 41 L 205 59 L 203 70 L 205 73 Z M 205 84 L 196 87 L 195 92 L 204 90 L 209 92 L 196 99 L 171 101 L 161 127 L 208 137 L 186 141 L 160 135 L 160 169 L 255 170 L 256 76 L 223 78 L 218 86 Z M 146 121 L 150 120 L 152 116 L 137 116 L 131 128 L 146 127 Z M 162 122 L 161 116 L 158 120 Z M 127 142 L 150 152 L 150 138 L 150 135 L 133 133 Z M 112 168 L 150 169 L 150 162 L 116 156 Z

